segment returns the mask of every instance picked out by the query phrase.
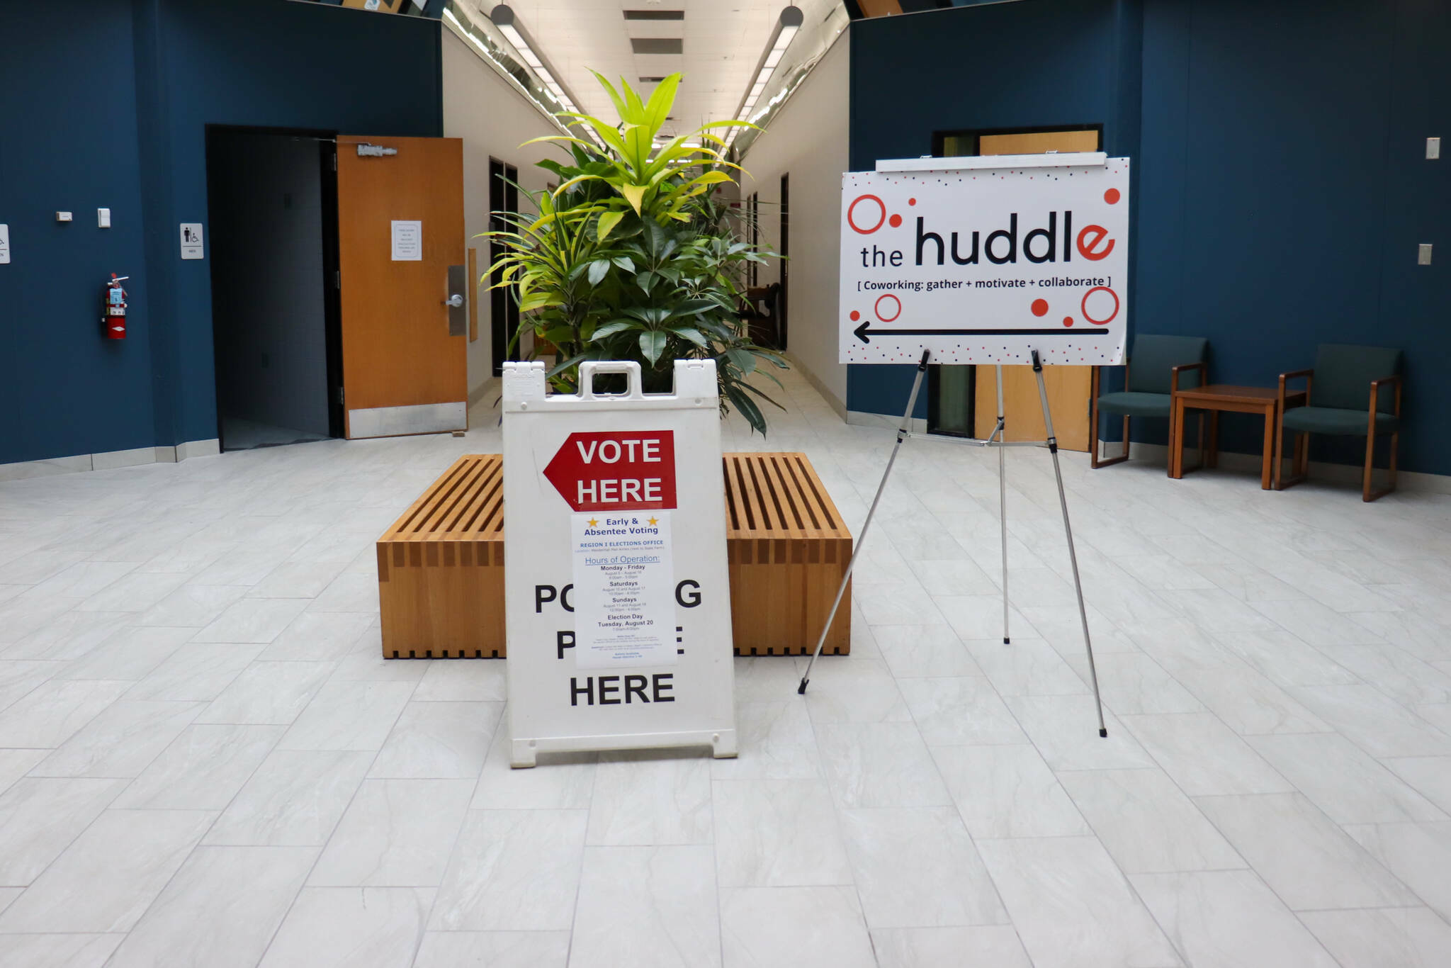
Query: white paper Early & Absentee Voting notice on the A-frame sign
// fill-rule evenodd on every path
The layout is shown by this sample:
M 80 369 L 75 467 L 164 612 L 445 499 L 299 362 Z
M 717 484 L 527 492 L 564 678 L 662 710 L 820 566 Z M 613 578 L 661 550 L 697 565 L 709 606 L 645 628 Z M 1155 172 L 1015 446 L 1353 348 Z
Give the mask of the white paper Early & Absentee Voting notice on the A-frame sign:
M 576 666 L 675 665 L 670 512 L 576 514 L 570 528 Z

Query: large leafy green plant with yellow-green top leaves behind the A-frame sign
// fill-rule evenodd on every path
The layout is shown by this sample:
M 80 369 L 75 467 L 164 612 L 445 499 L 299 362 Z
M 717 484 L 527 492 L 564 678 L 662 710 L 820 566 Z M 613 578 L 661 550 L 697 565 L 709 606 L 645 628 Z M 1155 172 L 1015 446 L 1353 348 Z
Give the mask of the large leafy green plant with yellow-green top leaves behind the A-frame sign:
M 785 360 L 753 344 L 740 321 L 747 263 L 772 253 L 740 238 L 739 219 L 712 194 L 734 181 L 726 142 L 715 129 L 749 126 L 720 120 L 656 144 L 679 87 L 666 77 L 649 102 L 621 78 L 620 90 L 599 74 L 618 122 L 582 113 L 560 119 L 577 135 L 557 142 L 566 161 L 540 167 L 559 187 L 527 192 L 533 213 L 499 212 L 508 226 L 486 235 L 502 242 L 493 268 L 498 286 L 519 300 L 525 329 L 559 350 L 548 373 L 557 392 L 577 390 L 586 360 L 640 363 L 646 392 L 669 392 L 676 358 L 714 358 L 721 411 L 740 411 L 766 432 L 755 398 L 779 406 L 749 377 Z M 779 380 L 776 382 L 779 386 Z

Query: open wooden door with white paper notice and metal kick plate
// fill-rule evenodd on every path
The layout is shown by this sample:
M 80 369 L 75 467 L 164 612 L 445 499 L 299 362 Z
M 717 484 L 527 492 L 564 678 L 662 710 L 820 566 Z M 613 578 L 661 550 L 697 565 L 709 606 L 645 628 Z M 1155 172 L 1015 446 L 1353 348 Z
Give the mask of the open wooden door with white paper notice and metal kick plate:
M 348 438 L 467 428 L 464 244 L 461 139 L 338 136 Z

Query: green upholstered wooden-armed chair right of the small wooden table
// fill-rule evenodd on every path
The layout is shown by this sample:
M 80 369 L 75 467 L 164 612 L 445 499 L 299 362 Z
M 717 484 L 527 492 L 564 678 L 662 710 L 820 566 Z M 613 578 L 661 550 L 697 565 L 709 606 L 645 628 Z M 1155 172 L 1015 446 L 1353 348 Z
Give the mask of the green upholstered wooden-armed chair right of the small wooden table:
M 1304 377 L 1304 406 L 1284 408 L 1286 380 Z M 1286 431 L 1294 431 L 1291 473 L 1280 476 L 1280 453 Z M 1275 491 L 1284 491 L 1306 477 L 1310 434 L 1365 438 L 1365 467 L 1361 472 L 1361 499 L 1374 501 L 1396 489 L 1396 450 L 1400 446 L 1400 350 L 1387 347 L 1351 347 L 1322 343 L 1315 351 L 1313 370 L 1280 374 L 1280 432 L 1274 443 Z M 1376 463 L 1376 438 L 1390 434 L 1390 483 L 1371 491 Z

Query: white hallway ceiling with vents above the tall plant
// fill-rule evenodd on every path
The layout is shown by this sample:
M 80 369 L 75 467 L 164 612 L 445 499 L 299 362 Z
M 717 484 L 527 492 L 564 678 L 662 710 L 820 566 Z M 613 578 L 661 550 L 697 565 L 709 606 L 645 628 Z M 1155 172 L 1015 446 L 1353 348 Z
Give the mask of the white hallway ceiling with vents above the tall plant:
M 538 52 L 553 65 L 580 110 L 612 119 L 609 96 L 591 68 L 618 83 L 624 77 L 641 97 L 653 81 L 676 71 L 685 75 L 676 94 L 673 120 L 665 134 L 688 132 L 707 120 L 736 116 L 752 73 L 789 0 L 509 0 Z M 498 6 L 482 0 L 485 16 Z M 842 7 L 842 0 L 795 0 L 805 15 L 802 30 L 784 61 L 792 60 L 802 38 Z M 627 17 L 625 12 L 644 12 Z M 683 16 L 675 17 L 675 13 Z M 679 54 L 650 52 L 675 46 Z

